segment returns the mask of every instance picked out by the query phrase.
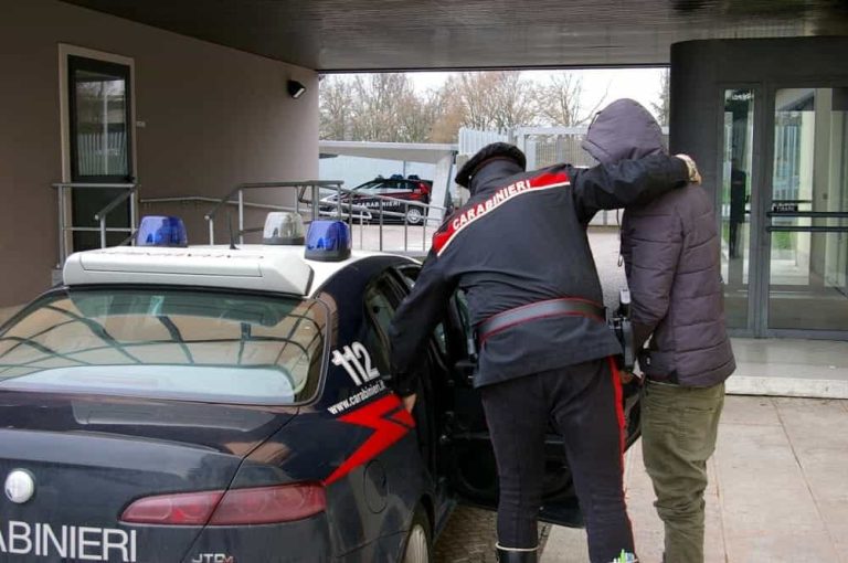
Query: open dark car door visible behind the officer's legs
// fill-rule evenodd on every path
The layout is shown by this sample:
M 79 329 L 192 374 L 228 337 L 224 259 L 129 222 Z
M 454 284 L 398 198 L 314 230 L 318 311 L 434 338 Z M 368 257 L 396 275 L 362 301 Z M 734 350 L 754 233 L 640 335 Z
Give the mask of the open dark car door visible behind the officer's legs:
M 498 475 L 480 393 L 473 386 L 476 351 L 470 317 L 462 290 L 452 299 L 445 320 L 451 397 L 443 443 L 451 456 L 451 481 L 463 501 L 497 509 Z M 638 437 L 639 405 L 636 384 L 624 389 L 629 446 Z M 545 437 L 545 472 L 539 519 L 560 525 L 582 527 L 583 517 L 574 491 L 562 438 L 550 427 Z

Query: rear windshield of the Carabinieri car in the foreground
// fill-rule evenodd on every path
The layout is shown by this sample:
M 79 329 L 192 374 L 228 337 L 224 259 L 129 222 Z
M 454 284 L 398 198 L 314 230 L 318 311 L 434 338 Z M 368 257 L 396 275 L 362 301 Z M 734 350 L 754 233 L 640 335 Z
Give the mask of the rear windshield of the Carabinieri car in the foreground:
M 294 404 L 318 389 L 326 323 L 320 301 L 294 297 L 51 294 L 0 332 L 0 389 Z

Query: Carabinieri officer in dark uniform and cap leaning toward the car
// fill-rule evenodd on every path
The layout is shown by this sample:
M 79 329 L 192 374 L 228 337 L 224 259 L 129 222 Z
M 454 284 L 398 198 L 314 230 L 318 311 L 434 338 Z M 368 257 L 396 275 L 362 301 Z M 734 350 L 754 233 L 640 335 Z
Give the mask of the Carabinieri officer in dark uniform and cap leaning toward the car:
M 438 229 L 415 287 L 392 322 L 392 385 L 414 401 L 415 365 L 457 288 L 479 349 L 480 390 L 500 480 L 500 562 L 537 561 L 537 516 L 550 421 L 563 437 L 593 563 L 633 553 L 622 490 L 623 413 L 585 226 L 602 209 L 688 183 L 688 157 L 657 155 L 579 170 L 524 172 L 496 142 L 456 176 L 470 199 Z

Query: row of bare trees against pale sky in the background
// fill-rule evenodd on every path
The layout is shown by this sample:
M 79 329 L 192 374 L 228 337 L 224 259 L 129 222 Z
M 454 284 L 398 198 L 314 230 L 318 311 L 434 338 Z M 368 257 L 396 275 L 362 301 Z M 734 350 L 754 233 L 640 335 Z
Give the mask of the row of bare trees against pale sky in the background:
M 607 91 L 608 91 L 607 85 Z M 416 94 L 402 73 L 327 77 L 320 89 L 324 139 L 455 142 L 460 127 L 508 130 L 589 121 L 606 93 L 584 108 L 583 85 L 569 72 L 537 85 L 520 72 L 466 72 L 437 91 Z

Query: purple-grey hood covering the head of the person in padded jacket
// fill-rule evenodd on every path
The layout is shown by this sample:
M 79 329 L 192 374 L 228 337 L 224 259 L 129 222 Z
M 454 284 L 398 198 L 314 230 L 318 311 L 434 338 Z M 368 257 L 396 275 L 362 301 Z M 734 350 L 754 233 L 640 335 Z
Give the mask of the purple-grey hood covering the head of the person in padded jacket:
M 583 149 L 602 164 L 665 152 L 662 129 L 638 102 L 616 99 L 589 126 Z

